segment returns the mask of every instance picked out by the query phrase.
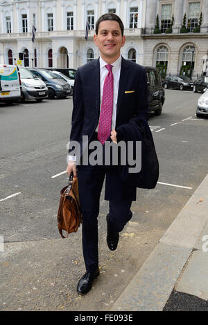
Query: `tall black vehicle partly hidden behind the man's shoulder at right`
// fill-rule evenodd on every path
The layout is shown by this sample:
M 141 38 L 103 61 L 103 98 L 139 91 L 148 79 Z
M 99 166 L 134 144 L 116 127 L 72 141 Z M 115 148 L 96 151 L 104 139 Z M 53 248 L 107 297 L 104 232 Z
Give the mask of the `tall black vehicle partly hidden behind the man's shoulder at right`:
M 148 88 L 150 91 L 150 111 L 160 115 L 165 101 L 165 92 L 161 84 L 159 71 L 153 66 L 146 66 Z

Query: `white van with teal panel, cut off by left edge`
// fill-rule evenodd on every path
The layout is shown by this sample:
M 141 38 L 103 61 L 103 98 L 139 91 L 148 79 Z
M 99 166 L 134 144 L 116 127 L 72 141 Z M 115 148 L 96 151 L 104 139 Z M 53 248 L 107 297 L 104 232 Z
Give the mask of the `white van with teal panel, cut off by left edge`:
M 19 68 L 0 64 L 0 101 L 14 102 L 21 96 Z

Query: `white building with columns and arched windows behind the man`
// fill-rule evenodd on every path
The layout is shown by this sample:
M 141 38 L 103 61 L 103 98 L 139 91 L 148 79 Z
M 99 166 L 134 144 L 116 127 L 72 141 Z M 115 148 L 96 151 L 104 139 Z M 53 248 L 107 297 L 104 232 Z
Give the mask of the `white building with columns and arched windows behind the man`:
M 168 75 L 190 67 L 193 77 L 205 72 L 207 0 L 0 0 L 0 63 L 14 64 L 22 56 L 22 66 L 77 68 L 96 59 L 94 28 L 105 12 L 123 21 L 123 57 Z

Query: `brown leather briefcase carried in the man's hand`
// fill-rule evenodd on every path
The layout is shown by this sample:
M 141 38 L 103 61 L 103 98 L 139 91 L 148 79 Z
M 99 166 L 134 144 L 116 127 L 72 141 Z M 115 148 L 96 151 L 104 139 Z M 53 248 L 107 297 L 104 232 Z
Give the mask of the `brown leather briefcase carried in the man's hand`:
M 71 232 L 76 232 L 82 222 L 80 211 L 80 201 L 78 194 L 78 178 L 73 177 L 73 173 L 69 176 L 69 185 L 64 187 L 60 192 L 60 204 L 58 209 L 58 230 L 62 238 L 62 230 L 65 230 L 68 235 Z

